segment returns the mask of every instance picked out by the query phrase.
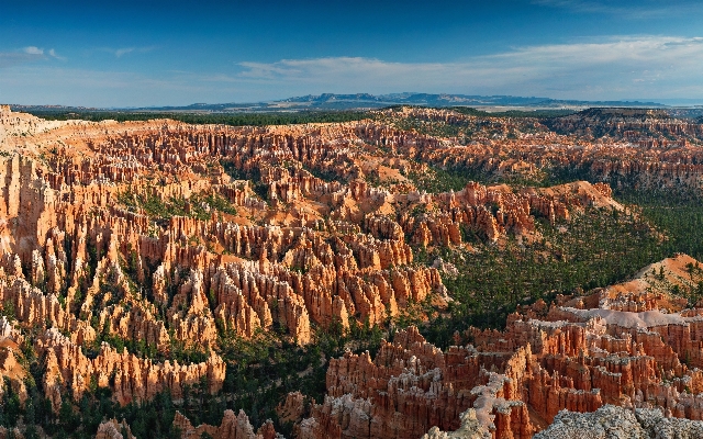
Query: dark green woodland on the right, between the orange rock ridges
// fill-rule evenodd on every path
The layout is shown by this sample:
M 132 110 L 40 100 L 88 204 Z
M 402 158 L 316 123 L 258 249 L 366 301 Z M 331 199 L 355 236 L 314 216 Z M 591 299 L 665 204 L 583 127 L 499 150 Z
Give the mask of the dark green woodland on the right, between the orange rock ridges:
M 515 187 L 548 187 L 577 180 L 595 182 L 583 168 L 549 169 L 543 180 L 496 177 L 481 168 L 433 168 L 424 175 L 412 175 L 419 189 L 427 192 L 459 191 L 469 181 L 484 184 L 510 183 Z M 451 344 L 455 330 L 470 326 L 502 327 L 507 314 L 520 304 L 538 299 L 549 301 L 556 294 L 579 294 L 594 288 L 626 280 L 640 268 L 684 252 L 703 258 L 703 196 L 691 190 L 633 189 L 628 181 L 614 198 L 626 205 L 626 212 L 591 210 L 565 224 L 567 232 L 539 223 L 544 243 L 509 241 L 504 248 L 486 245 L 480 237 L 465 230 L 466 240 L 479 252 L 466 254 L 437 249 L 425 255 L 432 262 L 436 256 L 455 263 L 456 278 L 444 283 L 458 303 L 449 313 L 437 313 L 424 326 L 424 335 L 437 346 Z M 549 245 L 546 246 L 545 243 Z M 701 291 L 690 293 L 690 302 L 703 299 Z

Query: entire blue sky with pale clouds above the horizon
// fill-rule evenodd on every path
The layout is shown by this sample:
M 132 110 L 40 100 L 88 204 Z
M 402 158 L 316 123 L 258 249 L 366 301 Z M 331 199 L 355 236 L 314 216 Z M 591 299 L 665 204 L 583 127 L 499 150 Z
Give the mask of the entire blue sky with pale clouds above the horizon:
M 320 93 L 703 104 L 700 0 L 0 0 L 0 103 Z

